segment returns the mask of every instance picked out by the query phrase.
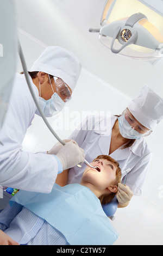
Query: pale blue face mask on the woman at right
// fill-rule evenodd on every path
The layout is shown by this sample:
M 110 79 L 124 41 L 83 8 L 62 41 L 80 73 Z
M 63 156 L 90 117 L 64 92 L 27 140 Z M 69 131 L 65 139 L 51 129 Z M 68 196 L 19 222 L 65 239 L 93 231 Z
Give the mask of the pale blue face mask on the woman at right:
M 119 123 L 120 133 L 123 138 L 141 139 L 142 137 L 141 134 L 135 131 L 133 128 L 131 128 L 124 114 L 122 114 L 121 117 L 118 118 L 118 123 Z

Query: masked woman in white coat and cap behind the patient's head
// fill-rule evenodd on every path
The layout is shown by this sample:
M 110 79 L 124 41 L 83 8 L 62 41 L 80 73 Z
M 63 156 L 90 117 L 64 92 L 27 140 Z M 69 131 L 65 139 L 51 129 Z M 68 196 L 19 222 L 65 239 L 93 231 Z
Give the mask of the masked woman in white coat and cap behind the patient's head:
M 111 132 L 105 131 L 107 121 L 103 119 L 101 124 L 95 124 L 92 130 L 86 130 L 86 123 L 82 123 L 71 135 L 79 147 L 85 150 L 87 161 L 91 161 L 96 155 L 104 154 L 120 163 L 122 181 L 125 176 L 124 170 L 131 169 L 127 186 L 119 184 L 118 187 L 117 199 L 120 208 L 129 204 L 133 194 L 141 196 L 152 159 L 152 151 L 144 137 L 150 135 L 162 118 L 162 97 L 148 86 L 143 86 L 139 95 L 129 103 L 120 117 L 111 117 Z M 86 120 L 88 121 L 89 119 Z M 96 126 L 100 129 L 96 130 Z M 83 168 L 84 166 L 71 168 L 68 183 L 80 182 Z

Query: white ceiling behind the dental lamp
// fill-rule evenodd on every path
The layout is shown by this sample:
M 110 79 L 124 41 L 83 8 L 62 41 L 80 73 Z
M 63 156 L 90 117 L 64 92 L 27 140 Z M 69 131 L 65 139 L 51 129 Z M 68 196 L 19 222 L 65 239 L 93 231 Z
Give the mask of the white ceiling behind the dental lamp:
M 133 98 L 143 84 L 163 96 L 163 60 L 153 66 L 142 60 L 111 53 L 98 40 L 105 0 L 15 0 L 17 26 L 43 45 L 59 45 L 72 51 L 83 68 Z M 32 61 L 34 49 L 29 48 Z M 25 56 L 26 57 L 26 56 Z

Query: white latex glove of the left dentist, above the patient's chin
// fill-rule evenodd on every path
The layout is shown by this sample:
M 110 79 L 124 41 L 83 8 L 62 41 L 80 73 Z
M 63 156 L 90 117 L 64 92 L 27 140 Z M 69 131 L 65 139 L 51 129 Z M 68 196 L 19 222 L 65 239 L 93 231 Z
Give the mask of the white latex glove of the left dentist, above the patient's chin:
M 79 148 L 74 141 L 67 142 L 57 154 L 63 170 L 70 169 L 77 164 L 82 164 L 85 160 L 84 150 Z

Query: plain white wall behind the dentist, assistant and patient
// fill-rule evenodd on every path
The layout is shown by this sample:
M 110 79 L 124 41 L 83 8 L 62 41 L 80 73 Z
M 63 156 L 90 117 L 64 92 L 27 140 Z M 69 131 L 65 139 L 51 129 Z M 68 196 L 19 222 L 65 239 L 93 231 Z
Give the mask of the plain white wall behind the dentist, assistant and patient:
M 21 32 L 20 40 L 27 65 L 30 67 L 45 45 Z M 20 63 L 17 71 L 22 71 Z M 70 113 L 74 110 L 80 113 L 98 110 L 119 114 L 129 101 L 129 97 L 83 69 L 73 99 L 68 106 Z M 54 127 L 54 118 L 48 120 Z M 120 235 L 116 245 L 163 245 L 163 197 L 161 198 L 159 194 L 159 187 L 163 186 L 162 130 L 163 122 L 148 138 L 154 155 L 142 196 L 134 197 L 126 209 L 118 209 L 116 212 L 116 218 L 112 222 Z M 71 132 L 71 130 L 57 131 L 62 139 L 67 138 Z M 24 138 L 23 149 L 35 153 L 50 149 L 55 142 L 56 139 L 48 131 L 42 119 L 36 116 Z

